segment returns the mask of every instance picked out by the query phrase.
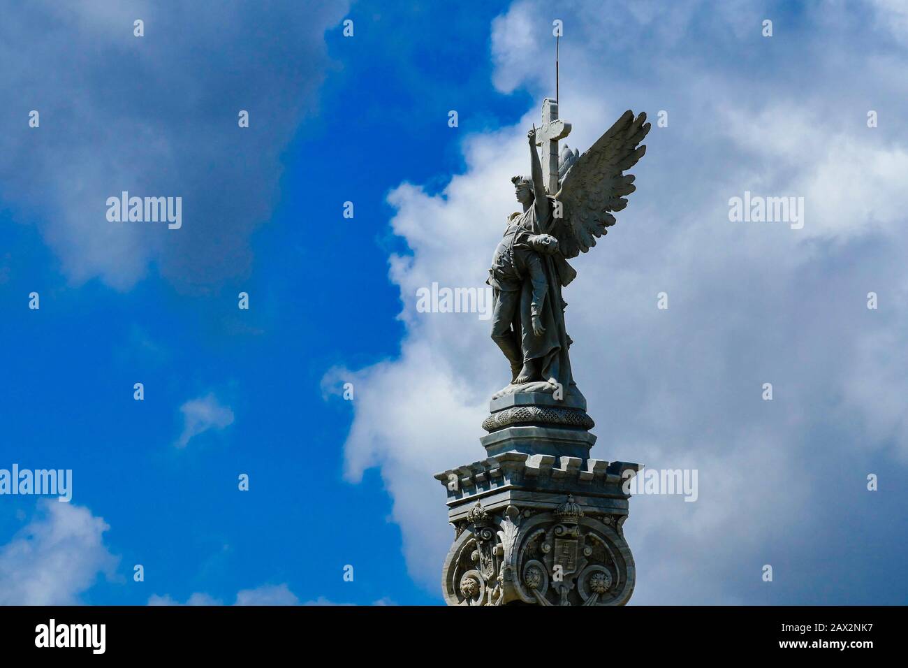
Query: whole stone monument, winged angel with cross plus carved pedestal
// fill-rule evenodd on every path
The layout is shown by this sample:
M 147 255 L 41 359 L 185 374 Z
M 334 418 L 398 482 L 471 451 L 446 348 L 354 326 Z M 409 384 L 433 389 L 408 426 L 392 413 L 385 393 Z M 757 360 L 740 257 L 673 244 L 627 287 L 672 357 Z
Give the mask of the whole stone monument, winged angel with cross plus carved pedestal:
M 450 605 L 623 605 L 634 592 L 623 484 L 643 466 L 589 457 L 594 423 L 571 373 L 561 288 L 576 276 L 567 260 L 606 234 L 634 191 L 624 172 L 646 150 L 645 121 L 628 111 L 560 165 L 570 125 L 557 102 L 528 133 L 531 175 L 512 179 L 523 213 L 508 217 L 489 270 L 492 339 L 511 382 L 482 424 L 487 458 L 435 476 L 455 532 L 441 573 Z

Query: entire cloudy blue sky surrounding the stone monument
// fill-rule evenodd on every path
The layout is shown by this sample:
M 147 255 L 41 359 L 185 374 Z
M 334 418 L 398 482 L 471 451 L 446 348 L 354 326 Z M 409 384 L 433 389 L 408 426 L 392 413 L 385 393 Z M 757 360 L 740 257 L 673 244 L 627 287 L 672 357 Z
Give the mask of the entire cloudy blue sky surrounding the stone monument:
M 441 602 L 431 473 L 481 457 L 503 372 L 488 323 L 421 318 L 412 295 L 481 284 L 550 94 L 550 20 L 528 2 L 294 5 L 38 4 L 0 27 L 0 467 L 74 472 L 65 508 L 0 498 L 2 603 Z M 866 22 L 615 5 L 564 5 L 576 145 L 628 107 L 677 130 L 654 128 L 627 216 L 581 258 L 572 352 L 594 455 L 703 472 L 698 503 L 632 503 L 638 602 L 904 603 L 908 280 L 887 178 L 908 166 L 908 22 L 882 2 Z M 816 223 L 732 229 L 746 188 L 805 194 Z M 183 229 L 108 223 L 122 190 L 182 195 Z M 860 324 L 870 289 L 886 308 Z M 775 404 L 749 403 L 767 377 Z M 179 447 L 193 400 L 232 420 Z

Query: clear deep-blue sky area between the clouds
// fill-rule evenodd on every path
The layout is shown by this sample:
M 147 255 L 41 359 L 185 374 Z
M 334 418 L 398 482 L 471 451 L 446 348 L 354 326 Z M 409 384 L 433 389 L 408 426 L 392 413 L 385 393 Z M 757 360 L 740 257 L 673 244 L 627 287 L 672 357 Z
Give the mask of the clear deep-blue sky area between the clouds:
M 280 194 L 250 235 L 250 269 L 206 282 L 203 294 L 175 288 L 153 262 L 127 289 L 97 277 L 74 284 L 40 224 L 7 194 L 5 467 L 73 469 L 74 503 L 110 525 L 104 544 L 121 557 L 114 573 L 125 582 L 99 578 L 79 600 L 145 603 L 202 591 L 232 601 L 242 589 L 288 583 L 301 601 L 439 601 L 408 577 L 380 477 L 341 479 L 350 406 L 325 401 L 321 377 L 334 364 L 398 351 L 400 297 L 387 250 L 405 244 L 389 234 L 384 195 L 402 180 L 441 183 L 460 168 L 449 107 L 469 100 L 461 123 L 480 128 L 518 113 L 519 96 L 496 95 L 488 58 L 476 57 L 488 53 L 494 15 L 488 8 L 452 21 L 362 4 L 351 14 L 354 38 L 341 36 L 340 22 L 330 26 L 326 78 L 310 94 L 318 108 L 287 128 Z M 148 22 L 144 39 L 153 32 Z M 253 70 L 266 70 L 280 54 L 251 57 Z M 252 109 L 250 134 L 256 109 L 273 104 L 253 99 L 242 105 Z M 225 107 L 231 139 L 212 154 L 217 161 L 231 161 L 232 144 L 245 141 Z M 352 220 L 342 217 L 348 200 Z M 217 254 L 216 239 L 206 241 L 193 250 Z M 39 311 L 24 307 L 33 290 Z M 240 291 L 251 295 L 248 312 L 237 308 Z M 136 382 L 143 402 L 133 401 Z M 232 409 L 233 424 L 175 448 L 180 406 L 209 393 Z M 251 477 L 249 493 L 237 490 L 240 473 Z M 34 498 L 4 497 L 0 536 L 35 512 Z M 134 563 L 145 566 L 144 583 L 133 583 Z M 353 583 L 342 580 L 348 563 Z

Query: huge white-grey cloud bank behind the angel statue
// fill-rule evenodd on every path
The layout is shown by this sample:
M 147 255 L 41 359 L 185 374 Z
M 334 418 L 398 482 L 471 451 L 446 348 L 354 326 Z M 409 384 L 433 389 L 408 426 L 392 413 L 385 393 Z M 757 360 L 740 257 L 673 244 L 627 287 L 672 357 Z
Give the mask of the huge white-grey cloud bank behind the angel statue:
M 897 401 L 908 393 L 900 307 L 908 132 L 874 135 L 861 99 L 812 80 L 828 65 L 816 44 L 774 43 L 796 51 L 796 82 L 742 83 L 716 56 L 750 39 L 740 16 L 718 12 L 706 27 L 693 25 L 692 5 L 678 3 L 665 21 L 645 6 L 624 15 L 568 4 L 559 16 L 573 31 L 563 43 L 569 57 L 562 50 L 568 144 L 585 150 L 628 107 L 651 120 L 667 109 L 670 118 L 647 138 L 637 193 L 617 226 L 575 261 L 566 317 L 577 383 L 597 421 L 593 455 L 699 471 L 697 503 L 631 503 L 634 602 L 755 603 L 749 583 L 761 564 L 848 521 L 795 510 L 828 483 L 831 461 L 862 461 L 871 449 L 908 453 Z M 508 177 L 527 171 L 526 130 L 554 87 L 539 65 L 548 49 L 534 41 L 548 39 L 549 15 L 541 2 L 520 2 L 493 25 L 495 84 L 506 92 L 525 85 L 537 104 L 518 125 L 465 139 L 466 171 L 443 193 L 401 184 L 390 194 L 391 227 L 412 249 L 390 257 L 407 332 L 398 359 L 343 374 L 357 388 L 347 474 L 356 481 L 380 468 L 410 573 L 429 591 L 438 591 L 451 540 L 444 490 L 431 476 L 483 457 L 479 424 L 507 364 L 488 323 L 419 314 L 415 294 L 433 281 L 485 279 L 505 216 L 517 208 Z M 696 45 L 704 31 L 708 58 L 696 48 L 677 57 L 676 40 L 657 38 L 686 33 Z M 833 38 L 814 35 L 821 44 Z M 895 115 L 892 72 L 865 71 L 868 56 L 850 47 L 851 71 L 840 80 L 861 73 L 877 91 L 874 104 Z M 848 115 L 829 113 L 842 105 L 851 105 Z M 730 223 L 728 198 L 745 190 L 804 196 L 804 230 Z M 663 290 L 669 309 L 657 311 Z M 869 290 L 886 294 L 885 313 L 864 307 Z M 765 382 L 775 385 L 773 402 L 761 400 Z M 830 428 L 840 441 L 817 435 Z

